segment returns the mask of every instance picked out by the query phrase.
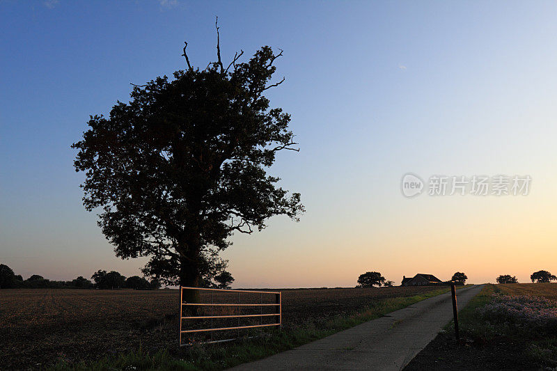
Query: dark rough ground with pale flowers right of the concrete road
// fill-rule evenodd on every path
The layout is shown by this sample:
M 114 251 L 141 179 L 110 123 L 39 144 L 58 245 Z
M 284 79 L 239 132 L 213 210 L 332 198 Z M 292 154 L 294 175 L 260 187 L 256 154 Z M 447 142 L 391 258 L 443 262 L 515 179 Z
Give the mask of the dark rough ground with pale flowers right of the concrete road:
M 486 284 L 459 312 L 461 342 L 451 321 L 405 370 L 557 370 L 557 319 L 535 299 L 556 297 L 548 285 Z

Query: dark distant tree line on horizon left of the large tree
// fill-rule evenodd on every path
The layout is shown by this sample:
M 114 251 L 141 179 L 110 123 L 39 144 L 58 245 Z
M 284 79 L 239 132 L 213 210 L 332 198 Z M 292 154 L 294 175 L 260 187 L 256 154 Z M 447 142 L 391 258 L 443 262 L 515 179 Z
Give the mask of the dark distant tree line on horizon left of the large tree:
M 68 288 L 68 289 L 133 289 L 133 290 L 157 290 L 161 287 L 158 278 L 151 278 L 147 281 L 146 278 L 139 276 L 132 276 L 125 278 L 117 271 L 96 271 L 91 276 L 94 283 L 79 276 L 72 281 L 51 281 L 47 278 L 33 274 L 26 280 L 19 274 L 15 274 L 13 269 L 7 265 L 0 264 L 0 289 L 8 288 Z

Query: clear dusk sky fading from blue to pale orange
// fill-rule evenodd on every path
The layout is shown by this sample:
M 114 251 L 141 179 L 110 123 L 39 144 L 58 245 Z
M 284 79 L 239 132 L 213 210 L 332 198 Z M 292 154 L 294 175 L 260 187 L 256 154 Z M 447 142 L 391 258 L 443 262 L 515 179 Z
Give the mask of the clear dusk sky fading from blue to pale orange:
M 557 271 L 554 1 L 0 1 L 0 262 L 24 278 L 140 274 L 86 212 L 70 148 L 89 115 L 240 49 L 283 49 L 269 90 L 300 152 L 269 169 L 306 213 L 235 235 L 234 287 L 353 287 L 359 274 Z M 402 177 L 423 193 L 407 198 Z M 430 196 L 434 175 L 531 177 L 528 194 Z

